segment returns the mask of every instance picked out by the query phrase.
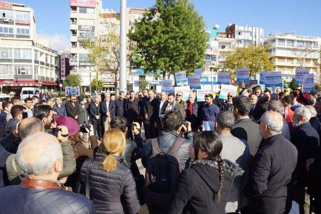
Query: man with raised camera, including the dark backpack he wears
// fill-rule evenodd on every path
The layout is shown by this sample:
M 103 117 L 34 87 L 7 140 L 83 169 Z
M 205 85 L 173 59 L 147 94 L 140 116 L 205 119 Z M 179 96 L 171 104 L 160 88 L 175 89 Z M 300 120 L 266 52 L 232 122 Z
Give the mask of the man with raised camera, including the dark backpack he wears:
M 183 125 L 183 117 L 169 112 L 162 122 L 164 131 L 157 138 L 146 140 L 141 162 L 146 168 L 143 192 L 149 213 L 163 213 L 177 187 L 180 172 L 189 162 L 188 146 L 194 133 L 191 123 Z M 181 131 L 186 138 L 179 137 Z

